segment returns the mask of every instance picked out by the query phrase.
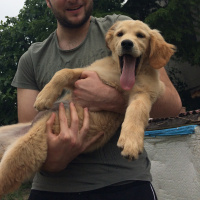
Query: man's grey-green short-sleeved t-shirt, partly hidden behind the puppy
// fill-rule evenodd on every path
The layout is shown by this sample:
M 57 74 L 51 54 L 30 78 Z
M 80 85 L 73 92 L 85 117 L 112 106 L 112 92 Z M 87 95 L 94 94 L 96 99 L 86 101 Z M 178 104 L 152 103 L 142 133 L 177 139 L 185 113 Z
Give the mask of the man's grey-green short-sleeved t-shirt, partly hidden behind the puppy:
M 83 43 L 69 51 L 59 48 L 56 32 L 45 41 L 32 44 L 19 61 L 12 85 L 40 91 L 56 71 L 65 67 L 84 67 L 110 55 L 105 44 L 105 34 L 113 23 L 126 19 L 130 18 L 122 15 L 92 17 L 89 32 Z M 37 173 L 32 189 L 81 192 L 126 181 L 151 181 L 150 161 L 146 151 L 144 150 L 138 160 L 126 160 L 117 147 L 119 134 L 120 128 L 103 148 L 79 155 L 59 173 Z

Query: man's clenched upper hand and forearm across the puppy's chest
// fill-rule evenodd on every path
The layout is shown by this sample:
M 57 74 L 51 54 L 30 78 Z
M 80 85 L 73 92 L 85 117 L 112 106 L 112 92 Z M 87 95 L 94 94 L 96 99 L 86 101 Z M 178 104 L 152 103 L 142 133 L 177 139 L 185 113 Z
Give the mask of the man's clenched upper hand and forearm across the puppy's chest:
M 104 84 L 96 72 L 84 71 L 75 82 L 73 101 L 91 111 L 125 112 L 126 103 L 121 93 Z

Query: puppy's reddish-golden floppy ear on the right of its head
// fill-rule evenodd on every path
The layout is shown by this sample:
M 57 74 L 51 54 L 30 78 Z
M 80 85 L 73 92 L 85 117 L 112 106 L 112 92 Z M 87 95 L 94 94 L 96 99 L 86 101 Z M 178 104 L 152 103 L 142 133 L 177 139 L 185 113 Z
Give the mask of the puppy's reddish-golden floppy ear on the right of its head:
M 155 69 L 160 69 L 169 62 L 176 47 L 167 43 L 157 30 L 152 30 L 150 35 L 149 64 Z

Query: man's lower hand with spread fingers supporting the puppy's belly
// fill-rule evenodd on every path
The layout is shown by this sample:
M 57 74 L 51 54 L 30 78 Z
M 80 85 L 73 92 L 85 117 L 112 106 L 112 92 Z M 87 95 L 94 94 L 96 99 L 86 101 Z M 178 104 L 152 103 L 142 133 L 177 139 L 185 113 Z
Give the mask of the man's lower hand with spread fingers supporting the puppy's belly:
M 83 126 L 79 131 L 79 120 L 76 108 L 70 104 L 71 126 L 68 127 L 65 108 L 63 103 L 59 105 L 60 134 L 55 135 L 52 127 L 55 120 L 55 113 L 47 121 L 47 159 L 43 165 L 43 170 L 57 172 L 66 166 L 82 153 L 89 145 L 95 142 L 103 133 L 98 133 L 92 140 L 88 140 L 86 134 L 89 129 L 89 113 L 84 109 Z

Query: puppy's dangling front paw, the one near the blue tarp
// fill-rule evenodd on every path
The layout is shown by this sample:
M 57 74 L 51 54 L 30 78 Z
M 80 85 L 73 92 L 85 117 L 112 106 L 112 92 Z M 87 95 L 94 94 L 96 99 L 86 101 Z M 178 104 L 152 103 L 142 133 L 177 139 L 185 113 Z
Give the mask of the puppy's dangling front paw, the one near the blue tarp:
M 122 130 L 117 146 L 122 149 L 121 155 L 132 160 L 138 159 L 144 148 L 144 131 L 140 133 Z

